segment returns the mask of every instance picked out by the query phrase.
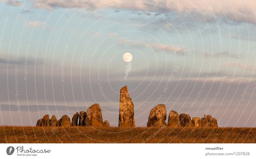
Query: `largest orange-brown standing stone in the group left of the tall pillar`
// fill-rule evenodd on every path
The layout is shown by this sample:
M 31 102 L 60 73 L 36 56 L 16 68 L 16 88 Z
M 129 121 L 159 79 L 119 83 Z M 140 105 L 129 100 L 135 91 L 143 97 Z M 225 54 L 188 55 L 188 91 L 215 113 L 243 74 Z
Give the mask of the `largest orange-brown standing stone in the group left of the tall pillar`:
M 85 126 L 102 127 L 103 119 L 100 105 L 95 103 L 87 109 L 87 116 L 85 118 Z

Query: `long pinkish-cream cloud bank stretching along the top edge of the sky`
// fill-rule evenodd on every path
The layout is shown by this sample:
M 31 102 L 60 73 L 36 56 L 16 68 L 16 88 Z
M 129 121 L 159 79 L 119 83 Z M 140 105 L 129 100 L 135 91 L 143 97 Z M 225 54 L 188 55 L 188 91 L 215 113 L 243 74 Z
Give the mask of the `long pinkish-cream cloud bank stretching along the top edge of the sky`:
M 142 2 L 138 0 L 31 0 L 36 3 L 36 8 L 55 9 L 61 8 L 86 8 L 87 10 L 97 10 L 103 7 L 113 8 L 115 10 L 129 10 L 129 11 L 149 11 L 162 13 L 176 13 L 178 14 L 191 14 L 194 16 L 222 18 L 224 21 L 233 20 L 237 22 L 250 22 L 256 24 L 255 12 L 253 6 L 256 6 L 256 1 L 243 0 L 243 1 L 212 1 L 212 0 L 194 0 L 194 1 L 158 1 L 150 0 L 148 2 Z M 198 19 L 197 19 L 198 20 Z M 201 20 L 204 20 L 201 18 Z

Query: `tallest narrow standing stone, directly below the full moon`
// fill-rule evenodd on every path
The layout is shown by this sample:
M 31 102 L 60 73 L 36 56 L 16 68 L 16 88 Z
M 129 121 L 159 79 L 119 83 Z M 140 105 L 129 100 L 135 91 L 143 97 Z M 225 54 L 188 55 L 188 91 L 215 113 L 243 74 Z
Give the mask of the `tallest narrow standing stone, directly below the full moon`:
M 127 86 L 120 90 L 119 127 L 135 127 L 134 105 Z

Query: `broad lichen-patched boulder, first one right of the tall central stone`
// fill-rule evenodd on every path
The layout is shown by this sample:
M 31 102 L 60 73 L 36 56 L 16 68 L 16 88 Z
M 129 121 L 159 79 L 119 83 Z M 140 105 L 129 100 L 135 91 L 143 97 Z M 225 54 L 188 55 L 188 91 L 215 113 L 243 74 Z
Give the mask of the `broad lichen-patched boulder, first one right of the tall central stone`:
M 165 126 L 166 108 L 164 104 L 155 106 L 148 116 L 148 127 L 152 126 Z

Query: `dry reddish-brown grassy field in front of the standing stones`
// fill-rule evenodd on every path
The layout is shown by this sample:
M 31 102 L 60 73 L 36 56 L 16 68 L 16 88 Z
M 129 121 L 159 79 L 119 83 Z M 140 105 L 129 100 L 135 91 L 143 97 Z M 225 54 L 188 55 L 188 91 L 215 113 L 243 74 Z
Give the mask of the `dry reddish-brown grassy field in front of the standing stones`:
M 0 143 L 256 143 L 256 128 L 1 126 Z

